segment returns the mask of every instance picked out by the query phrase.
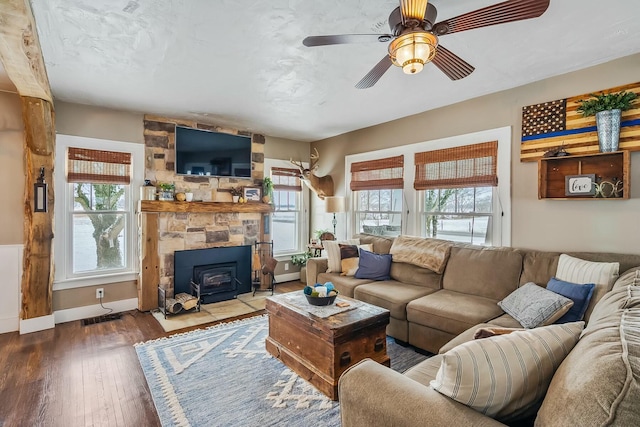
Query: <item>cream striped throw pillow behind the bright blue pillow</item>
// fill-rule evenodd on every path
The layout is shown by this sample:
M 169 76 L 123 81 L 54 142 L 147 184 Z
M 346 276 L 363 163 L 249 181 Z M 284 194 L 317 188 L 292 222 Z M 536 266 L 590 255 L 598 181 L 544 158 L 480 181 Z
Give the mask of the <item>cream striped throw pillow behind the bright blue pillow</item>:
M 593 296 L 584 313 L 584 318 L 589 319 L 593 306 L 613 287 L 619 269 L 620 263 L 617 262 L 592 262 L 561 254 L 555 277 L 571 283 L 595 283 Z

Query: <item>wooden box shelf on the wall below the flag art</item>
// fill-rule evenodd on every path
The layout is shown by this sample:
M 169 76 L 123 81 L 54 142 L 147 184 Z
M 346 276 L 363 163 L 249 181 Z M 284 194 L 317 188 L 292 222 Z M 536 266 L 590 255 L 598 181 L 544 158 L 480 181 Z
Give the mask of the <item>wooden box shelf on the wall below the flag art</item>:
M 538 199 L 554 200 L 625 200 L 631 193 L 631 160 L 629 151 L 587 154 L 582 156 L 547 157 L 538 160 Z M 601 195 L 566 195 L 565 177 L 594 174 L 596 181 L 615 184 L 622 181 L 619 197 Z

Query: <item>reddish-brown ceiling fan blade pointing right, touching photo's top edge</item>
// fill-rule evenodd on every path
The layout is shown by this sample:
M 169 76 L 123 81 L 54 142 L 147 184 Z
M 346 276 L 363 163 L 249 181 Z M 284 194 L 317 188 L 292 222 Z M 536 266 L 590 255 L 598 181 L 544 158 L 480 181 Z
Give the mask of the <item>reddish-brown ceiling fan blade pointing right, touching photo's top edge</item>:
M 507 0 L 455 18 L 438 22 L 433 32 L 442 36 L 474 28 L 537 18 L 549 8 L 550 0 Z

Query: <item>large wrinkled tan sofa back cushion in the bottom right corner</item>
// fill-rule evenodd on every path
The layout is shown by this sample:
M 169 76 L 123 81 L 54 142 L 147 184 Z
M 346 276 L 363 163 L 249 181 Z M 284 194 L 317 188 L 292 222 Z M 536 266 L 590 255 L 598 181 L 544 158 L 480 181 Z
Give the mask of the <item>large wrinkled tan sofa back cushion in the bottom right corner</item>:
M 617 288 L 596 305 L 551 381 L 536 426 L 638 425 L 640 306 L 629 299 L 639 294 L 638 287 Z

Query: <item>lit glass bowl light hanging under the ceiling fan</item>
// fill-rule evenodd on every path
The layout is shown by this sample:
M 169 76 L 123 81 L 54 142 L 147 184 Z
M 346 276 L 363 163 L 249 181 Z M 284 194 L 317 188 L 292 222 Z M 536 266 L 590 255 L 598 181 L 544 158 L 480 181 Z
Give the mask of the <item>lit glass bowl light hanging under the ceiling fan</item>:
M 389 44 L 389 57 L 393 65 L 401 67 L 406 74 L 417 74 L 424 64 L 436 54 L 438 38 L 426 31 L 411 31 L 402 34 Z

